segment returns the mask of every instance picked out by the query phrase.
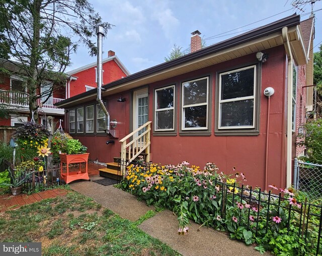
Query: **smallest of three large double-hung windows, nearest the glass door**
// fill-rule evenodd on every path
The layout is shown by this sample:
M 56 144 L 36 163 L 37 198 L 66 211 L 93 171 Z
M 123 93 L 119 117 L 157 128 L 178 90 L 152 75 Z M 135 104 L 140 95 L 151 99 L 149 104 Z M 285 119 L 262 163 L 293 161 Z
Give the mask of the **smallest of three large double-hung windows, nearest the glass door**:
M 154 130 L 174 131 L 175 86 L 156 89 L 154 98 Z

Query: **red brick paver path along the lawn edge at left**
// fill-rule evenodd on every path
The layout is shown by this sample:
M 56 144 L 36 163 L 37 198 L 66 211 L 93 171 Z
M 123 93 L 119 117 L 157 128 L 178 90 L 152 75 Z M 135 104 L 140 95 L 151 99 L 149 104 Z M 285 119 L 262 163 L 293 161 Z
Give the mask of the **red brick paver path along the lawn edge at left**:
M 36 194 L 13 196 L 10 194 L 0 195 L 0 213 L 20 208 L 23 205 L 29 205 L 47 198 L 55 198 L 67 194 L 65 189 L 55 188 L 41 191 Z

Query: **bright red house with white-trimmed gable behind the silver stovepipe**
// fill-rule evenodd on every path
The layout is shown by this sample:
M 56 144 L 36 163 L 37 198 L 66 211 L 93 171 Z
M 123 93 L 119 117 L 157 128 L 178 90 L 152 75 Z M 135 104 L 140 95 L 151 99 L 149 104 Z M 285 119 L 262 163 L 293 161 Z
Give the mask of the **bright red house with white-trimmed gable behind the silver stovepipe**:
M 67 72 L 70 78 L 66 82 L 66 99 L 83 92 L 97 88 L 96 82 L 97 62 Z M 123 63 L 112 50 L 108 57 L 103 59 L 103 83 L 108 84 L 130 75 Z

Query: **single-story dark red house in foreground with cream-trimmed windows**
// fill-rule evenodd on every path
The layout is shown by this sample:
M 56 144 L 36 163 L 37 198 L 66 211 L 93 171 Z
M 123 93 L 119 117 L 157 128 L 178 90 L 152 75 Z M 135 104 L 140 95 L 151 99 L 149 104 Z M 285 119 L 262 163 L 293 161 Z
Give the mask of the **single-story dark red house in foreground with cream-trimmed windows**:
M 65 108 L 67 132 L 93 160 L 113 162 L 121 151 L 125 158 L 119 141 L 129 136 L 155 163 L 213 162 L 225 173 L 244 172 L 248 184 L 284 187 L 292 181 L 298 127 L 312 105 L 305 86 L 313 29 L 313 19 L 301 23 L 294 14 L 203 49 L 199 31 L 192 33 L 196 51 L 103 86 L 114 124 L 108 135 L 97 90 L 57 106 Z M 264 95 L 268 87 L 271 97 Z M 145 132 L 132 132 L 144 123 L 146 140 L 137 142 Z

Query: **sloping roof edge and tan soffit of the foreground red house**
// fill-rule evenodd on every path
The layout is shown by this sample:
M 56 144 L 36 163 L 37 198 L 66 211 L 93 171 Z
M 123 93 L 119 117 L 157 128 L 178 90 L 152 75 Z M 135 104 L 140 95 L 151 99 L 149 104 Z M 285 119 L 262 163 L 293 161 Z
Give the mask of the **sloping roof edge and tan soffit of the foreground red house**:
M 284 19 L 251 30 L 247 33 L 229 38 L 206 48 L 189 53 L 182 57 L 164 62 L 157 66 L 137 72 L 120 80 L 103 86 L 103 96 L 133 89 L 159 80 L 164 80 L 194 70 L 202 69 L 216 63 L 237 58 L 260 50 L 284 44 L 282 28 L 288 27 L 290 43 L 295 50 L 294 57 L 301 65 L 306 63 L 302 35 L 300 33 L 300 16 L 293 14 Z M 97 89 L 76 95 L 57 103 L 62 107 L 73 106 L 78 103 L 94 100 Z

